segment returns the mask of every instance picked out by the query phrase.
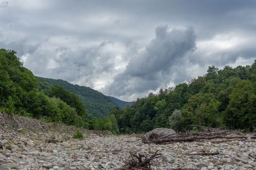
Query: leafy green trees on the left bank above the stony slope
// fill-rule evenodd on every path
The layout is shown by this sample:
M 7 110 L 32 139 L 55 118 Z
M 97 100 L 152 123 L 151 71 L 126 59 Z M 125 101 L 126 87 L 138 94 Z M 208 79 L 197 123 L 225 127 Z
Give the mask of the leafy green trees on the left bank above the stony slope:
M 40 92 L 38 78 L 15 54 L 0 49 L 0 112 L 88 127 L 88 116 L 78 96 L 61 86 Z

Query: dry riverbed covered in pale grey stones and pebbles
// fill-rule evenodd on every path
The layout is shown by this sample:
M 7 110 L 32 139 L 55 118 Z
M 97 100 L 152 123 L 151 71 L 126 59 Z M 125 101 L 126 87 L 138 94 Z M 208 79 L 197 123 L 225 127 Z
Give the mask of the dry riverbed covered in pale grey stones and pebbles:
M 256 170 L 256 141 L 250 138 L 148 145 L 138 135 L 83 131 L 84 139 L 74 139 L 73 131 L 32 130 L 34 122 L 30 121 L 38 120 L 22 118 L 30 122 L 27 127 L 8 126 L 7 117 L 0 125 L 0 170 L 115 170 L 124 165 L 131 151 L 147 154 L 157 150 L 162 157 L 152 161 L 154 170 Z

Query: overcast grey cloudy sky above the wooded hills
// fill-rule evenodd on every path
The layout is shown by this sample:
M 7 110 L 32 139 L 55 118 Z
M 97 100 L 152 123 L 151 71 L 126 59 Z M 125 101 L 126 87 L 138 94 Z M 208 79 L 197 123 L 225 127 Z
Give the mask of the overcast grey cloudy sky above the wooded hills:
M 135 101 L 252 65 L 256 0 L 0 0 L 0 48 L 36 76 Z

